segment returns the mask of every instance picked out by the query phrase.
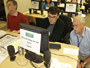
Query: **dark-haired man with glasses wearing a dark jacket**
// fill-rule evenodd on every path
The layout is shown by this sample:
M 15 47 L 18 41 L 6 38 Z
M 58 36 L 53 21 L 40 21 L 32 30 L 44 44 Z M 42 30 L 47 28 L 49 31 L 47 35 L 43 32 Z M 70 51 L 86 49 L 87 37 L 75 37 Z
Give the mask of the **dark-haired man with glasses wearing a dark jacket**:
M 48 17 L 41 22 L 41 27 L 49 31 L 49 41 L 58 41 L 64 30 L 64 22 L 59 19 L 60 9 L 53 6 L 48 10 Z

